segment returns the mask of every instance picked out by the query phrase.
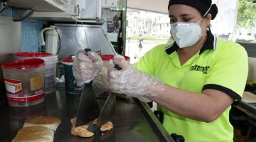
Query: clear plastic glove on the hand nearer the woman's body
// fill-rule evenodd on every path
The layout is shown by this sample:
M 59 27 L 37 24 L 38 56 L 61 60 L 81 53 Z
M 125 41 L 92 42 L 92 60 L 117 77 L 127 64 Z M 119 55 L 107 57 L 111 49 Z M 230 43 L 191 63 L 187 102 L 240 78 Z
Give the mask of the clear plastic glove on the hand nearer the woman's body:
M 112 92 L 123 93 L 140 99 L 164 91 L 164 83 L 151 75 L 140 72 L 129 62 L 126 62 L 121 55 L 114 56 L 113 62 L 115 65 L 119 65 L 122 70 L 112 68 L 108 71 L 107 79 Z

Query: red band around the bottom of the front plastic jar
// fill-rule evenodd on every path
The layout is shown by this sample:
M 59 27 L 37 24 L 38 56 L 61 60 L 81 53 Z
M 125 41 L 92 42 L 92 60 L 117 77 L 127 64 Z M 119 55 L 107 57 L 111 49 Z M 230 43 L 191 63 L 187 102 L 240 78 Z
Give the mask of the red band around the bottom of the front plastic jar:
M 7 98 L 9 102 L 33 102 L 43 98 L 44 96 L 45 96 L 45 93 L 35 94 L 29 97 L 10 97 L 9 95 L 7 95 Z

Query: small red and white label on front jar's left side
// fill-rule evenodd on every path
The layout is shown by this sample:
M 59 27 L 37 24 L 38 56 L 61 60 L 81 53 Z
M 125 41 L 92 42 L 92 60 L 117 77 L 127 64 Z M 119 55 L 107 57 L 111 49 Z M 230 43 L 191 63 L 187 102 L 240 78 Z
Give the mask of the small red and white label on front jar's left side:
M 22 87 L 20 80 L 11 80 L 11 79 L 4 79 L 4 84 L 6 86 L 6 92 L 10 94 L 21 94 Z

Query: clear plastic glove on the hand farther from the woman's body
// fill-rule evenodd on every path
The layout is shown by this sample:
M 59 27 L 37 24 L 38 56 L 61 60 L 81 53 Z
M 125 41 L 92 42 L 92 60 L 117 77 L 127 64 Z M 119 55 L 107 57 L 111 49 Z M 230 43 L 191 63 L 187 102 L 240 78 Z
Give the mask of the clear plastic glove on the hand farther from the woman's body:
M 97 53 L 79 50 L 73 62 L 73 75 L 78 86 L 92 81 L 97 75 L 102 75 L 103 62 Z

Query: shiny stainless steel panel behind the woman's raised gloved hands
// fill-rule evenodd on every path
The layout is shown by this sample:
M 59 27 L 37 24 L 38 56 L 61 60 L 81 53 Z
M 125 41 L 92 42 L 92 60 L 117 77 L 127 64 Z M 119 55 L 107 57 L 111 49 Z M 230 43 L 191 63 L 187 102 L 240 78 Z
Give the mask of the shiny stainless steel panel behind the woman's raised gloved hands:
M 91 48 L 102 54 L 115 54 L 115 50 L 99 25 L 55 24 L 60 34 L 60 52 L 58 58 L 73 55 L 81 48 Z

